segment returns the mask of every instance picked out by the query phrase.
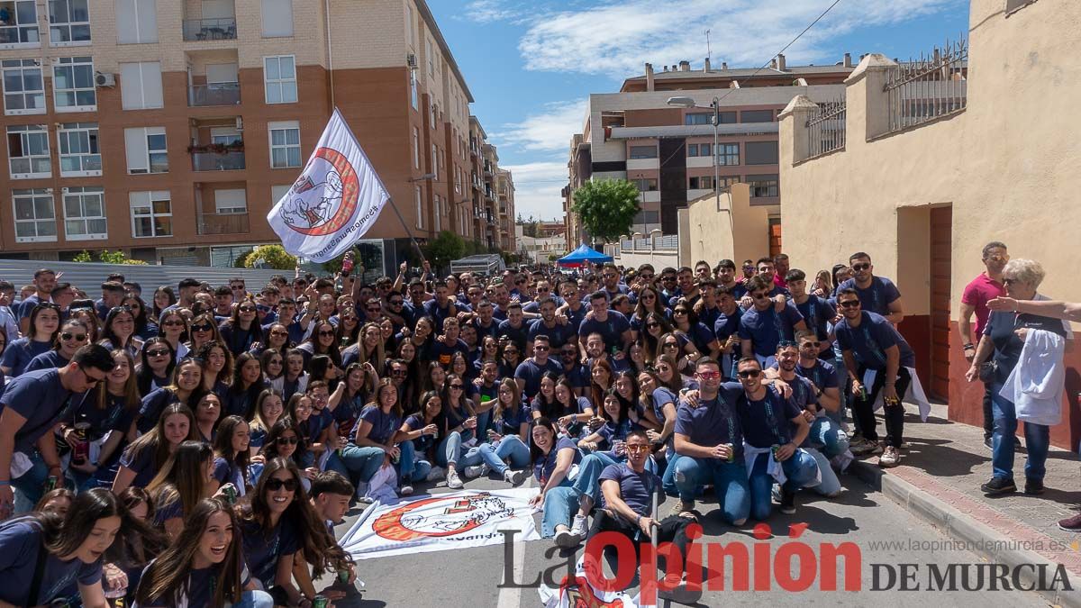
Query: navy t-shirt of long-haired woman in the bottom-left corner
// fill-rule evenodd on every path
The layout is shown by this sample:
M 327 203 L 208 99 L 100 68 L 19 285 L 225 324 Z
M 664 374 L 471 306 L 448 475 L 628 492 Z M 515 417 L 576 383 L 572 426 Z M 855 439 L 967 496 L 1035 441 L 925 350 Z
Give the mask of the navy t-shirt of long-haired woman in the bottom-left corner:
M 9 519 L 0 524 L 0 600 L 13 606 L 28 606 L 30 581 L 42 546 L 41 524 L 32 517 Z M 102 561 L 84 564 L 78 557 L 67 561 L 46 554 L 38 584 L 38 605 L 62 599 L 72 583 L 93 585 L 102 580 Z

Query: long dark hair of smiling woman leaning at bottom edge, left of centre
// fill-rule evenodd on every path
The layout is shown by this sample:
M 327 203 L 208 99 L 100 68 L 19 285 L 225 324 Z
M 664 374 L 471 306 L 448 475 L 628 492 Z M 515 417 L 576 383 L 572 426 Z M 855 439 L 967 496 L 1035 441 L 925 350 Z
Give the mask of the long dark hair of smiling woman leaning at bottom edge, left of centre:
M 203 499 L 191 510 L 184 521 L 184 530 L 176 537 L 176 540 L 150 564 L 146 573 L 143 574 L 138 591 L 135 593 L 135 600 L 138 604 L 179 605 L 187 589 L 188 578 L 191 576 L 192 558 L 199 550 L 210 518 L 218 513 L 228 514 L 228 526 L 232 529 L 232 538 L 229 547 L 225 551 L 225 559 L 221 564 L 212 566 L 217 569 L 214 576 L 212 606 L 219 608 L 226 604 L 240 602 L 240 594 L 243 592 L 241 586 L 243 563 L 240 547 L 240 526 L 237 525 L 237 516 L 224 501 Z

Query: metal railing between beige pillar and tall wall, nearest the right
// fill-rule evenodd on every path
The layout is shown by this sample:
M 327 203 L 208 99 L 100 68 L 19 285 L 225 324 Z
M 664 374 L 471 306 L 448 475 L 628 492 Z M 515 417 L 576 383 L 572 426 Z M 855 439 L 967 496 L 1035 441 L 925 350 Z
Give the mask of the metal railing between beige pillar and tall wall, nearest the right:
M 962 111 L 967 104 L 969 41 L 961 39 L 898 64 L 886 77 L 890 132 Z

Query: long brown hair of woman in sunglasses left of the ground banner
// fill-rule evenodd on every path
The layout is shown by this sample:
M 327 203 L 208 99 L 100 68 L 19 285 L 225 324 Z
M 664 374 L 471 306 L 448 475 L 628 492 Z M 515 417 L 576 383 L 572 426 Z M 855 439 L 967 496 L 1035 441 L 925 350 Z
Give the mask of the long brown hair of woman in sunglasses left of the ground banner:
M 308 502 L 307 492 L 304 491 L 304 484 L 301 480 L 301 468 L 292 461 L 283 458 L 272 458 L 267 461 L 259 481 L 252 491 L 252 500 L 238 507 L 240 518 L 257 524 L 264 533 L 270 531 L 270 505 L 266 498 L 267 481 L 275 473 L 282 470 L 288 471 L 296 483 L 293 502 L 285 507 L 282 517 L 293 520 L 298 545 L 304 550 L 305 559 L 311 565 L 311 576 L 317 578 L 328 569 L 337 569 L 350 564 L 351 559 L 331 537 L 326 526 Z

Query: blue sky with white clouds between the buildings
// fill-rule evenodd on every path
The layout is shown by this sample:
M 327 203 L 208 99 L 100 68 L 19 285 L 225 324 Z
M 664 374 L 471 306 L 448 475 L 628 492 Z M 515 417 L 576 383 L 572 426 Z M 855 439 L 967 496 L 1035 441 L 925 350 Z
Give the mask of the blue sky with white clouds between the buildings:
M 499 166 L 510 169 L 517 212 L 563 217 L 571 137 L 590 93 L 690 61 L 702 69 L 760 67 L 835 0 L 428 0 Z M 957 40 L 967 0 L 839 0 L 785 51 L 788 65 L 828 65 L 852 53 L 906 60 Z M 709 30 L 707 50 L 706 30 Z

